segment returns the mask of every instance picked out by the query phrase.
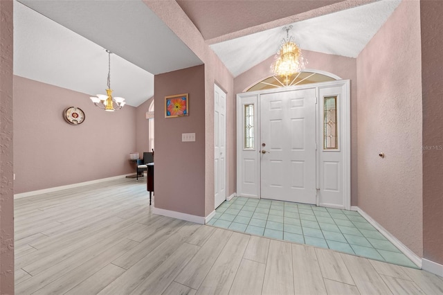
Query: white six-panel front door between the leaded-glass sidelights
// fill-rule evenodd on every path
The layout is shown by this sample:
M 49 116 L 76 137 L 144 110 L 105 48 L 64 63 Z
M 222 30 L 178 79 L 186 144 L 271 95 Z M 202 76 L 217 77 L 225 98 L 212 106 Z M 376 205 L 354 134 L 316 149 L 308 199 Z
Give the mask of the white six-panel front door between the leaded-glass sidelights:
M 260 96 L 261 197 L 316 204 L 316 89 Z

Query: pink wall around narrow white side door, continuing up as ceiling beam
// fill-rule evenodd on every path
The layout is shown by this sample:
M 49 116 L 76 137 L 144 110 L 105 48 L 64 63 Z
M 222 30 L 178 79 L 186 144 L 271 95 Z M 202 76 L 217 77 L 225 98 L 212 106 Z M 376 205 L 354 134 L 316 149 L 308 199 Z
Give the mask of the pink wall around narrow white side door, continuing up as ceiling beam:
M 217 83 L 221 89 L 226 91 L 227 98 L 227 144 L 226 149 L 226 170 L 228 171 L 228 195 L 235 192 L 235 95 L 233 91 L 233 76 L 230 74 L 226 66 L 219 60 L 217 55 L 209 48 L 204 41 L 199 30 L 192 24 L 192 21 L 186 16 L 185 12 L 180 8 L 174 0 L 169 1 L 144 1 L 144 3 L 158 16 L 165 24 L 200 58 L 204 64 L 204 78 L 200 81 L 204 86 L 204 172 L 201 177 L 204 178 L 204 216 L 214 211 L 214 83 Z M 174 83 L 171 81 L 170 83 Z M 155 88 L 155 91 L 158 89 Z M 157 110 L 157 104 L 156 104 Z M 157 138 L 157 133 L 156 133 Z M 156 145 L 156 150 L 159 150 Z M 157 169 L 156 161 L 156 173 Z M 156 192 L 157 193 L 157 192 Z M 189 206 L 183 206 L 180 212 L 188 213 L 193 211 Z M 190 214 L 190 213 L 189 213 Z M 200 215 L 203 216 L 203 215 Z

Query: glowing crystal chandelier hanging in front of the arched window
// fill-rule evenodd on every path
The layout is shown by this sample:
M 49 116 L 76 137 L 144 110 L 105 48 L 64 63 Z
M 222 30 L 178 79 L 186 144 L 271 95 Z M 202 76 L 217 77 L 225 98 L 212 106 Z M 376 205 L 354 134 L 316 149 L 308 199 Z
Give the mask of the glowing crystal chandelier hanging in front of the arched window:
M 288 80 L 289 76 L 299 73 L 305 69 L 305 59 L 302 57 L 300 47 L 294 42 L 293 37 L 289 37 L 289 30 L 292 26 L 284 26 L 286 30 L 286 39 L 282 39 L 280 48 L 275 55 L 275 62 L 271 65 L 271 71 L 274 75 L 280 75 Z

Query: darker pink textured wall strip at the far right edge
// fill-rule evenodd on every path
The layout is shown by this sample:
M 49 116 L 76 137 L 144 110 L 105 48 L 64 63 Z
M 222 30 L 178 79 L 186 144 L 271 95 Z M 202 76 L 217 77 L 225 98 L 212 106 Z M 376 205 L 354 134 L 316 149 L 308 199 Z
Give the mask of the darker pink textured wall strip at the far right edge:
M 443 1 L 420 1 L 423 90 L 423 257 L 443 265 Z

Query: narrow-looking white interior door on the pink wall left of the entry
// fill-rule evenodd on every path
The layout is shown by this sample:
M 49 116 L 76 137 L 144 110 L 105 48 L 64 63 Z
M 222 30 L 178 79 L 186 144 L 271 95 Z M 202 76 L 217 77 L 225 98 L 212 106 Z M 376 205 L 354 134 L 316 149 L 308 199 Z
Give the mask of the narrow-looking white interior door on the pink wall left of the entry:
M 215 208 L 226 200 L 226 93 L 214 84 Z

